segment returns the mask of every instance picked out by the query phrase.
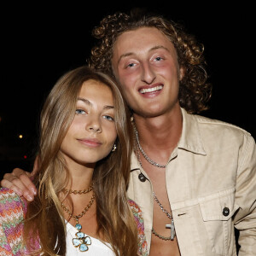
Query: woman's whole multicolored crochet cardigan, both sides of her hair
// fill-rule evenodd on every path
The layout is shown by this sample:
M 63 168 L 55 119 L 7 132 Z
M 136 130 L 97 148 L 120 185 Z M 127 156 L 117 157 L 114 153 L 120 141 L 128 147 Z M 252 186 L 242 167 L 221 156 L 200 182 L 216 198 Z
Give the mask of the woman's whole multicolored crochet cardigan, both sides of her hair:
M 143 214 L 137 204 L 129 200 L 138 229 L 138 253 L 146 256 L 147 242 L 144 235 Z M 23 220 L 27 202 L 13 190 L 0 189 L 0 256 L 21 255 Z M 39 248 L 39 243 L 34 245 Z M 23 251 L 24 253 L 24 251 Z

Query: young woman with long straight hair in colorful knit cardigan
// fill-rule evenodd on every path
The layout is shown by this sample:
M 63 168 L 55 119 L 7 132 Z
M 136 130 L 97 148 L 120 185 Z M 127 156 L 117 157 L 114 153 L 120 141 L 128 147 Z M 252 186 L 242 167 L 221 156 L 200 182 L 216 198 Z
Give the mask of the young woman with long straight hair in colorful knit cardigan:
M 112 79 L 66 73 L 41 113 L 35 200 L 0 189 L 0 254 L 146 255 L 142 212 L 126 197 L 131 125 Z

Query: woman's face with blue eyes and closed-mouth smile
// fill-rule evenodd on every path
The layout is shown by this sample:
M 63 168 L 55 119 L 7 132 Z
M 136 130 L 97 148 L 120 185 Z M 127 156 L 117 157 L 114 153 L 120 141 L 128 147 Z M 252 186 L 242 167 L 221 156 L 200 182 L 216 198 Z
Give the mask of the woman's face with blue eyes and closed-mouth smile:
M 75 117 L 61 144 L 67 163 L 95 164 L 106 157 L 117 137 L 113 94 L 106 84 L 87 80 L 82 85 Z

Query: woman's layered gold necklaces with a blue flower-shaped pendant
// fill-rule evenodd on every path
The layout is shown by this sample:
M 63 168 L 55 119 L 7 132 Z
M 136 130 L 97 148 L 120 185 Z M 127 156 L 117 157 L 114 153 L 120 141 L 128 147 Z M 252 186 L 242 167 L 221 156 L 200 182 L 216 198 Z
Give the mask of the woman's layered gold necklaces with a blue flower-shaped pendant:
M 74 195 L 87 194 L 91 190 L 93 191 L 93 185 L 91 185 L 89 189 L 84 189 L 84 190 L 62 189 L 63 192 L 68 194 L 74 194 Z M 90 198 L 90 202 L 86 207 L 84 207 L 84 210 L 79 215 L 74 215 L 67 207 L 64 206 L 63 203 L 61 203 L 61 207 L 63 208 L 63 210 L 69 214 L 70 218 L 73 218 L 76 221 L 75 228 L 78 230 L 78 232 L 76 233 L 76 237 L 73 238 L 73 246 L 79 247 L 80 252 L 86 252 L 89 250 L 88 246 L 91 245 L 91 240 L 90 240 L 90 236 L 85 236 L 85 234 L 81 232 L 82 225 L 79 224 L 79 218 L 82 218 L 84 214 L 88 212 L 88 210 L 90 209 L 94 201 L 95 201 L 95 193 L 93 191 L 93 194 Z

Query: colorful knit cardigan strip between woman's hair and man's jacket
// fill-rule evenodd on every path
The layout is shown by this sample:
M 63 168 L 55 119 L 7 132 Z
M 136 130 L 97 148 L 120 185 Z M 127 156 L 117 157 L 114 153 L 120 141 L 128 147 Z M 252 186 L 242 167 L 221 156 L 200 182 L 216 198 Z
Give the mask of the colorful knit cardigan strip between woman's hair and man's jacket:
M 138 231 L 138 255 L 148 256 L 148 249 L 147 249 L 147 241 L 146 236 L 144 234 L 144 221 L 143 221 L 143 212 L 137 206 L 135 201 L 131 199 L 128 200 L 129 205 L 131 207 L 131 212 L 137 223 L 137 231 Z

